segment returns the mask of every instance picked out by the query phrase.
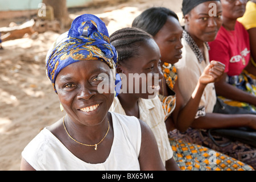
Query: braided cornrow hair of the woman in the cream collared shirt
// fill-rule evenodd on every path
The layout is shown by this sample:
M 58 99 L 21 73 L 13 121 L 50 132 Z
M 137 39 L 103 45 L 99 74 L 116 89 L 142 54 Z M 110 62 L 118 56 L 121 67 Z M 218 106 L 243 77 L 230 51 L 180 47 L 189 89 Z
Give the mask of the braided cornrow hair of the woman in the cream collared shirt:
M 139 46 L 148 39 L 153 39 L 150 34 L 139 28 L 122 28 L 110 35 L 110 43 L 118 53 L 118 62 L 139 56 Z

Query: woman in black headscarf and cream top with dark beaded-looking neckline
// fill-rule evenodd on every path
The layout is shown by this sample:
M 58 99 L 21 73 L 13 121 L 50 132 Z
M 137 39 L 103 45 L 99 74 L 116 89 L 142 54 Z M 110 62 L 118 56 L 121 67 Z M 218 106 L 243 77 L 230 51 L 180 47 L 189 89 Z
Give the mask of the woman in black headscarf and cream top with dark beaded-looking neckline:
M 187 2 L 187 3 L 185 3 Z M 184 35 L 183 35 L 183 58 L 176 63 L 177 75 L 181 94 L 185 103 L 191 97 L 193 89 L 196 87 L 196 81 L 205 68 L 205 64 L 209 64 L 209 53 L 207 42 L 216 38 L 217 31 L 222 24 L 222 6 L 219 1 L 215 1 L 217 5 L 217 16 L 209 16 L 209 3 L 207 1 L 197 6 L 192 6 L 187 0 L 183 1 L 183 15 L 185 19 Z M 201 57 L 203 56 L 203 59 Z M 192 68 L 192 69 L 191 69 Z M 189 77 L 189 80 L 187 79 Z M 239 107 L 228 107 L 228 105 L 219 104 L 216 98 L 214 87 L 208 89 L 201 97 L 201 104 L 197 112 L 195 120 L 191 127 L 194 129 L 205 130 L 188 130 L 193 143 L 203 144 L 209 148 L 220 151 L 226 155 L 232 156 L 252 167 L 256 167 L 256 148 L 245 143 L 233 141 L 221 137 L 215 138 L 218 142 L 212 140 L 208 133 L 208 129 L 225 128 L 225 127 L 250 127 L 256 129 L 256 115 L 253 114 L 234 114 L 229 110 L 243 112 L 244 109 Z M 212 102 L 212 104 L 210 104 Z M 215 103 L 215 104 L 214 104 Z M 218 109 L 220 106 L 220 109 Z M 219 110 L 223 110 L 223 113 Z M 247 111 L 247 110 L 246 110 Z M 233 114 L 232 114 L 233 113 Z M 226 144 L 223 147 L 222 144 Z

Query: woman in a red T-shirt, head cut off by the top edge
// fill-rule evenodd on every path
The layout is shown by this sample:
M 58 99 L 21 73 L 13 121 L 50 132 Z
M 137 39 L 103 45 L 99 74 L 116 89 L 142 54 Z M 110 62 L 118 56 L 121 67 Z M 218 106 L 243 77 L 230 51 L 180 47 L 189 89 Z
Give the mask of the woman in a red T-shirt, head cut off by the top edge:
M 209 42 L 210 60 L 226 65 L 225 73 L 215 83 L 216 93 L 226 104 L 242 107 L 256 114 L 256 82 L 244 69 L 250 61 L 250 39 L 237 18 L 245 13 L 247 0 L 222 0 L 223 23 L 213 42 Z M 254 50 L 253 50 L 254 51 Z

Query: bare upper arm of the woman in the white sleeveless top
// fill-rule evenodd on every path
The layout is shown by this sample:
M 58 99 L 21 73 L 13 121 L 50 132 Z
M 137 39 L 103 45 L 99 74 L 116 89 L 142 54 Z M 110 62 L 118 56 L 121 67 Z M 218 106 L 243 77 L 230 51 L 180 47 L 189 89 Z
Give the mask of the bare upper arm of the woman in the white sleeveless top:
M 139 165 L 142 171 L 165 171 L 166 168 L 160 158 L 158 145 L 150 127 L 139 119 L 141 123 L 141 150 Z

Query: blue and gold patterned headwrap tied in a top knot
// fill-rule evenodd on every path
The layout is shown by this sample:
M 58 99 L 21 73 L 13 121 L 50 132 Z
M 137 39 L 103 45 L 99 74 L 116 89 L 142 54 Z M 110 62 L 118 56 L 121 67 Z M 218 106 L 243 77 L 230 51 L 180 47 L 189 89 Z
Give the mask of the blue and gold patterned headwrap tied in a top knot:
M 62 34 L 47 53 L 46 72 L 55 92 L 55 79 L 61 69 L 82 60 L 101 60 L 111 69 L 117 63 L 117 51 L 110 44 L 105 23 L 92 14 L 73 20 L 69 31 Z

